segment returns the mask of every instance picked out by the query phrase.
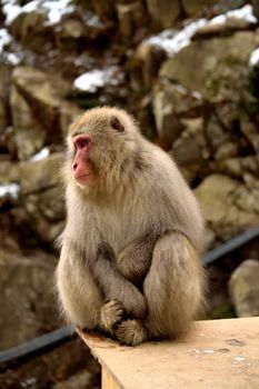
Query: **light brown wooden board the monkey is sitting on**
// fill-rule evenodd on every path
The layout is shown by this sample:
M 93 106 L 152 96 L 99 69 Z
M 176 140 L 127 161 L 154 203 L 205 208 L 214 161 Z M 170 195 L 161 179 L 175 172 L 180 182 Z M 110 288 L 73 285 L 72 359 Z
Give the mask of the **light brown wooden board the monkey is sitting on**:
M 103 389 L 259 389 L 259 318 L 199 321 L 185 340 L 138 347 L 80 335 Z

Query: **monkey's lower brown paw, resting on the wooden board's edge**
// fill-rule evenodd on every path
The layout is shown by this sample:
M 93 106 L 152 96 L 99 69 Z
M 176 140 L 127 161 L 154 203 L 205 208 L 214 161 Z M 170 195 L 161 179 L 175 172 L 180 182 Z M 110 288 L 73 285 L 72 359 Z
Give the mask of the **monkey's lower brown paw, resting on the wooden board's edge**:
M 136 346 L 148 340 L 148 331 L 140 320 L 124 320 L 116 329 L 120 343 Z

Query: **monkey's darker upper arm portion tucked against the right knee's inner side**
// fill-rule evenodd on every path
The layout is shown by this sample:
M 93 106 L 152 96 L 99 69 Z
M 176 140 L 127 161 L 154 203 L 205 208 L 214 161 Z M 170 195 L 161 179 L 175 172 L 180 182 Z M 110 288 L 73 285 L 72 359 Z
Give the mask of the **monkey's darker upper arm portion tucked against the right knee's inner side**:
M 117 268 L 124 278 L 141 286 L 152 261 L 152 251 L 158 236 L 148 233 L 130 242 L 117 258 Z

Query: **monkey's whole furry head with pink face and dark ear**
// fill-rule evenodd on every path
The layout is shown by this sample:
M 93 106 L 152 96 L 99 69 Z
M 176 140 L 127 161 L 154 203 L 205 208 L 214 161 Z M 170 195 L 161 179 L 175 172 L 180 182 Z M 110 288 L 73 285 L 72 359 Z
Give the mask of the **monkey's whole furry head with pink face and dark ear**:
M 118 108 L 93 108 L 69 129 L 67 174 L 69 169 L 69 179 L 72 177 L 86 192 L 97 188 L 111 192 L 132 166 L 139 142 L 141 136 L 128 113 Z

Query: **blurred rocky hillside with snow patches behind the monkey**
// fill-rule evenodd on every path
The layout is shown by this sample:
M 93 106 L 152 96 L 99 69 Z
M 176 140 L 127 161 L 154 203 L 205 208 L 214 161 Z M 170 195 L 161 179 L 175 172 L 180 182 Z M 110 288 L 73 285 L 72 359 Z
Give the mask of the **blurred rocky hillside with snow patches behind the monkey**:
M 0 1 L 0 350 L 62 323 L 63 139 L 117 104 L 177 160 L 208 250 L 259 222 L 259 1 Z M 259 315 L 259 242 L 208 268 L 209 318 Z M 0 388 L 99 388 L 79 339 L 0 370 Z

